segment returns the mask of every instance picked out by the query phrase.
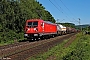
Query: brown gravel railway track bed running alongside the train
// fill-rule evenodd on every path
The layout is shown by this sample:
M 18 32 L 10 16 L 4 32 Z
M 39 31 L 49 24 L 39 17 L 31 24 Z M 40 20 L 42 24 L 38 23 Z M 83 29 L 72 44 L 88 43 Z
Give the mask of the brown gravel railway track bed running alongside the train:
M 39 53 L 47 51 L 49 48 L 55 46 L 56 44 L 62 42 L 67 38 L 70 38 L 73 35 L 75 35 L 75 33 L 58 36 L 47 40 L 40 40 L 30 43 L 25 42 L 25 44 L 18 44 L 16 46 L 13 46 L 13 48 L 9 47 L 0 49 L 0 56 L 1 58 L 9 57 L 10 60 L 25 60 L 28 57 L 32 57 Z

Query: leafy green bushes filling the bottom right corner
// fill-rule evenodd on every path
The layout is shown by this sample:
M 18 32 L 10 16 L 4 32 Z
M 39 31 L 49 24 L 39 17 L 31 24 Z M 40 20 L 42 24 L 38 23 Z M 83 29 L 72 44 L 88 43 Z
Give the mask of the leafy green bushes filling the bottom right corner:
M 88 35 L 81 36 L 75 50 L 63 57 L 63 60 L 90 60 L 90 38 Z

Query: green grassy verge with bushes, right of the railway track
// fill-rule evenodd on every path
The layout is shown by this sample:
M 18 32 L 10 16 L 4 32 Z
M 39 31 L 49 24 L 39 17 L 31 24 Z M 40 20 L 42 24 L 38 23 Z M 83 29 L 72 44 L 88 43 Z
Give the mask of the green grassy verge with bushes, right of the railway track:
M 29 60 L 90 60 L 90 35 L 77 34 L 76 36 L 77 38 L 70 46 L 64 47 L 69 39 L 65 40 L 47 52 L 31 57 Z

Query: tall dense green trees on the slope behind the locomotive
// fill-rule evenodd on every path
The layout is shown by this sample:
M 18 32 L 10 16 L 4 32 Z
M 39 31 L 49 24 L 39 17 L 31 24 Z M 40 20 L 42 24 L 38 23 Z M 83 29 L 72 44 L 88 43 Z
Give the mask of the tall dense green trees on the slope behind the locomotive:
M 0 41 L 21 38 L 25 21 L 37 18 L 55 22 L 50 12 L 37 0 L 0 0 Z

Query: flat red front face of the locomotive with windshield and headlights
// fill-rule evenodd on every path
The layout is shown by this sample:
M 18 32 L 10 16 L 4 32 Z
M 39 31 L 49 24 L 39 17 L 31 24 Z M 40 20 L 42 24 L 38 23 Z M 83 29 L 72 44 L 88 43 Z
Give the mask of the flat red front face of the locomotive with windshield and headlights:
M 28 21 L 25 26 L 25 37 L 38 36 L 38 21 Z

